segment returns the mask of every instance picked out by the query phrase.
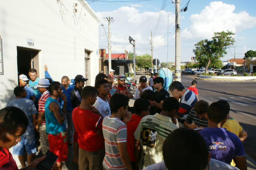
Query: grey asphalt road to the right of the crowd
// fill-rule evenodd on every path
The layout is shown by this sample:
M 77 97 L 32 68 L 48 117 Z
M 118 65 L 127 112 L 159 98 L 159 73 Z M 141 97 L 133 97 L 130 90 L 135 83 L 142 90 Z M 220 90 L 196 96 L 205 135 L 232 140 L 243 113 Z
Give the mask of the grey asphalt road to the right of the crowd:
M 182 75 L 185 88 L 191 85 L 198 75 Z M 196 80 L 199 100 L 209 104 L 226 100 L 230 104 L 230 116 L 239 122 L 247 132 L 243 142 L 244 150 L 256 161 L 256 81 Z

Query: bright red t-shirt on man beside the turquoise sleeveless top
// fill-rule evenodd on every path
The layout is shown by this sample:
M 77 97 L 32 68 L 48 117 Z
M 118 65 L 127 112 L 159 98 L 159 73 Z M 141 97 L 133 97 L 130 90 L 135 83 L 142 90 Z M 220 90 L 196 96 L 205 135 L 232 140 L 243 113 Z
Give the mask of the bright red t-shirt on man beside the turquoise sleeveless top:
M 79 148 L 92 152 L 104 148 L 103 134 L 96 135 L 102 129 L 103 119 L 92 110 L 76 107 L 72 112 L 74 127 L 78 133 Z

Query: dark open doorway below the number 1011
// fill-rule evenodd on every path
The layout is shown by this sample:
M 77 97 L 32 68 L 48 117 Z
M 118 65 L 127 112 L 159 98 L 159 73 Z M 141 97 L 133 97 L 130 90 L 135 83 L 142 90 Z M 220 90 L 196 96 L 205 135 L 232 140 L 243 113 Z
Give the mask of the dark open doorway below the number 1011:
M 18 74 L 24 74 L 28 78 L 28 71 L 35 68 L 39 75 L 39 50 L 17 46 L 17 68 Z M 19 81 L 18 81 L 19 82 Z

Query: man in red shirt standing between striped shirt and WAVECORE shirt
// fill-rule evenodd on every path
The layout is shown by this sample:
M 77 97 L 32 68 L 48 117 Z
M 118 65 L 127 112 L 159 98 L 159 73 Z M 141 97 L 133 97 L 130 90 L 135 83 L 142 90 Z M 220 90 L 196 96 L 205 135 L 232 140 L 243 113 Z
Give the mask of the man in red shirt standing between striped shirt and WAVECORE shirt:
M 136 158 L 134 154 L 134 133 L 140 123 L 142 117 L 149 115 L 150 102 L 147 99 L 139 98 L 135 100 L 133 109 L 135 114 L 131 115 L 131 120 L 126 124 L 127 126 L 127 151 L 130 156 L 131 167 L 136 169 Z

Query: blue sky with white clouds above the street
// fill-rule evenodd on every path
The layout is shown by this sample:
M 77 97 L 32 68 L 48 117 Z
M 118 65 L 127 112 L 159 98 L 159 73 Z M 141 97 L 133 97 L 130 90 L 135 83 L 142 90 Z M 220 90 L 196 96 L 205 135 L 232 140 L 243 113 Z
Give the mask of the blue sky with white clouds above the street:
M 109 0 L 105 0 L 109 1 Z M 115 0 L 116 1 L 116 0 Z M 135 39 L 137 55 L 151 54 L 150 31 L 154 33 L 159 10 L 164 0 L 151 0 L 136 3 L 130 2 L 91 2 L 89 5 L 100 18 L 99 48 L 107 49 L 107 38 L 101 24 L 107 31 L 107 22 L 102 17 L 113 17 L 111 23 L 112 53 L 133 51 L 128 36 Z M 188 0 L 182 0 L 183 8 Z M 181 61 L 191 61 L 194 56 L 194 44 L 202 39 L 211 39 L 214 32 L 234 32 L 235 47 L 229 48 L 228 54 L 222 58 L 227 60 L 243 58 L 248 50 L 256 50 L 256 1 L 255 0 L 190 0 L 188 10 L 181 12 Z M 175 4 L 167 0 L 162 11 L 161 22 L 153 37 L 153 58 L 161 62 L 167 61 L 167 18 L 169 17 L 168 61 L 175 61 Z

